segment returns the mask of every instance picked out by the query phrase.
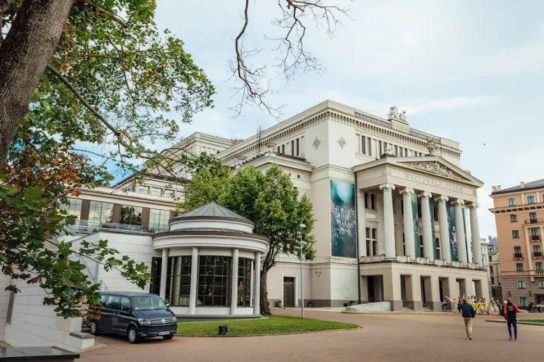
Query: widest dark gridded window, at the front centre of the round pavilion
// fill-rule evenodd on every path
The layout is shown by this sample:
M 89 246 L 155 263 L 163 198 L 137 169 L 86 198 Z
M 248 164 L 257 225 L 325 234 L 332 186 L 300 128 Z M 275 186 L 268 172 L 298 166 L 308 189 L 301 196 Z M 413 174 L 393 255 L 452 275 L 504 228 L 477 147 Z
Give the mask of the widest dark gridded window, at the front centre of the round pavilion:
M 231 269 L 231 257 L 198 258 L 197 306 L 230 306 Z

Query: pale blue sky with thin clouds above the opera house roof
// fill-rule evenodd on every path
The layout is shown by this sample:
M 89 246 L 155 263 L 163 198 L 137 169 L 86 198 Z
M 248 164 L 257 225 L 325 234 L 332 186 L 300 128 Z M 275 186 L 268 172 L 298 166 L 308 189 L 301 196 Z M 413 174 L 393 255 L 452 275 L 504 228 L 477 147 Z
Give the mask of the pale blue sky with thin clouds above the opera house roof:
M 280 0 L 284 1 L 284 0 Z M 323 0 L 347 5 L 350 17 L 330 37 L 308 19 L 305 47 L 322 74 L 277 81 L 269 98 L 284 120 L 324 100 L 385 118 L 397 105 L 411 127 L 460 142 L 462 168 L 485 184 L 478 191 L 481 236 L 496 235 L 492 185 L 544 178 L 544 1 Z M 158 0 L 156 22 L 185 42 L 216 86 L 215 107 L 198 113 L 181 135 L 204 132 L 244 139 L 277 120 L 257 107 L 236 117 L 228 60 L 243 21 L 243 0 Z M 281 34 L 277 1 L 250 0 L 246 45 L 272 62 Z

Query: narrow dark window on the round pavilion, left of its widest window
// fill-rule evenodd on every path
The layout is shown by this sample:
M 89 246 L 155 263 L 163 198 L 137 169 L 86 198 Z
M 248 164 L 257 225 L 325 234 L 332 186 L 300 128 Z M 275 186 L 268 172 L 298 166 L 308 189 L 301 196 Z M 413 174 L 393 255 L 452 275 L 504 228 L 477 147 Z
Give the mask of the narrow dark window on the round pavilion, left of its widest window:
M 189 306 L 192 256 L 174 256 L 169 259 L 167 278 L 172 288 L 169 302 L 172 306 Z

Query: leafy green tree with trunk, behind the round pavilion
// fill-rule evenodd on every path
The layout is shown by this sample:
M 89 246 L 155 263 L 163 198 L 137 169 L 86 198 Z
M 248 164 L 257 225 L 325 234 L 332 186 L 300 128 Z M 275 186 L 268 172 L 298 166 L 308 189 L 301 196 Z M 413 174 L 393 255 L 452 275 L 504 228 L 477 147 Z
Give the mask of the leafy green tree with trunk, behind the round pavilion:
M 186 195 L 191 206 L 186 210 L 216 201 L 253 221 L 254 232 L 270 239 L 269 250 L 262 260 L 260 281 L 261 313 L 269 314 L 266 281 L 278 254 L 295 254 L 300 258 L 302 240 L 303 257 L 307 260 L 315 257 L 310 200 L 305 195 L 299 198 L 299 191 L 293 187 L 289 175 L 278 166 L 272 166 L 266 172 L 248 166 L 227 178 L 213 178 L 204 168 L 202 175 L 197 173 L 188 185 Z M 302 223 L 306 228 L 300 228 Z

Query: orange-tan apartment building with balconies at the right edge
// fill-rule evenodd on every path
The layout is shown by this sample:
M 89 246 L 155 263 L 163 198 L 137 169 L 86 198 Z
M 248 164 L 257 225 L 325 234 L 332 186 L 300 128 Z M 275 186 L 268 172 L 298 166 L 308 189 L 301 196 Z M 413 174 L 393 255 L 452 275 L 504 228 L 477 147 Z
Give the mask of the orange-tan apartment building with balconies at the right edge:
M 502 298 L 544 303 L 544 179 L 492 187 Z

